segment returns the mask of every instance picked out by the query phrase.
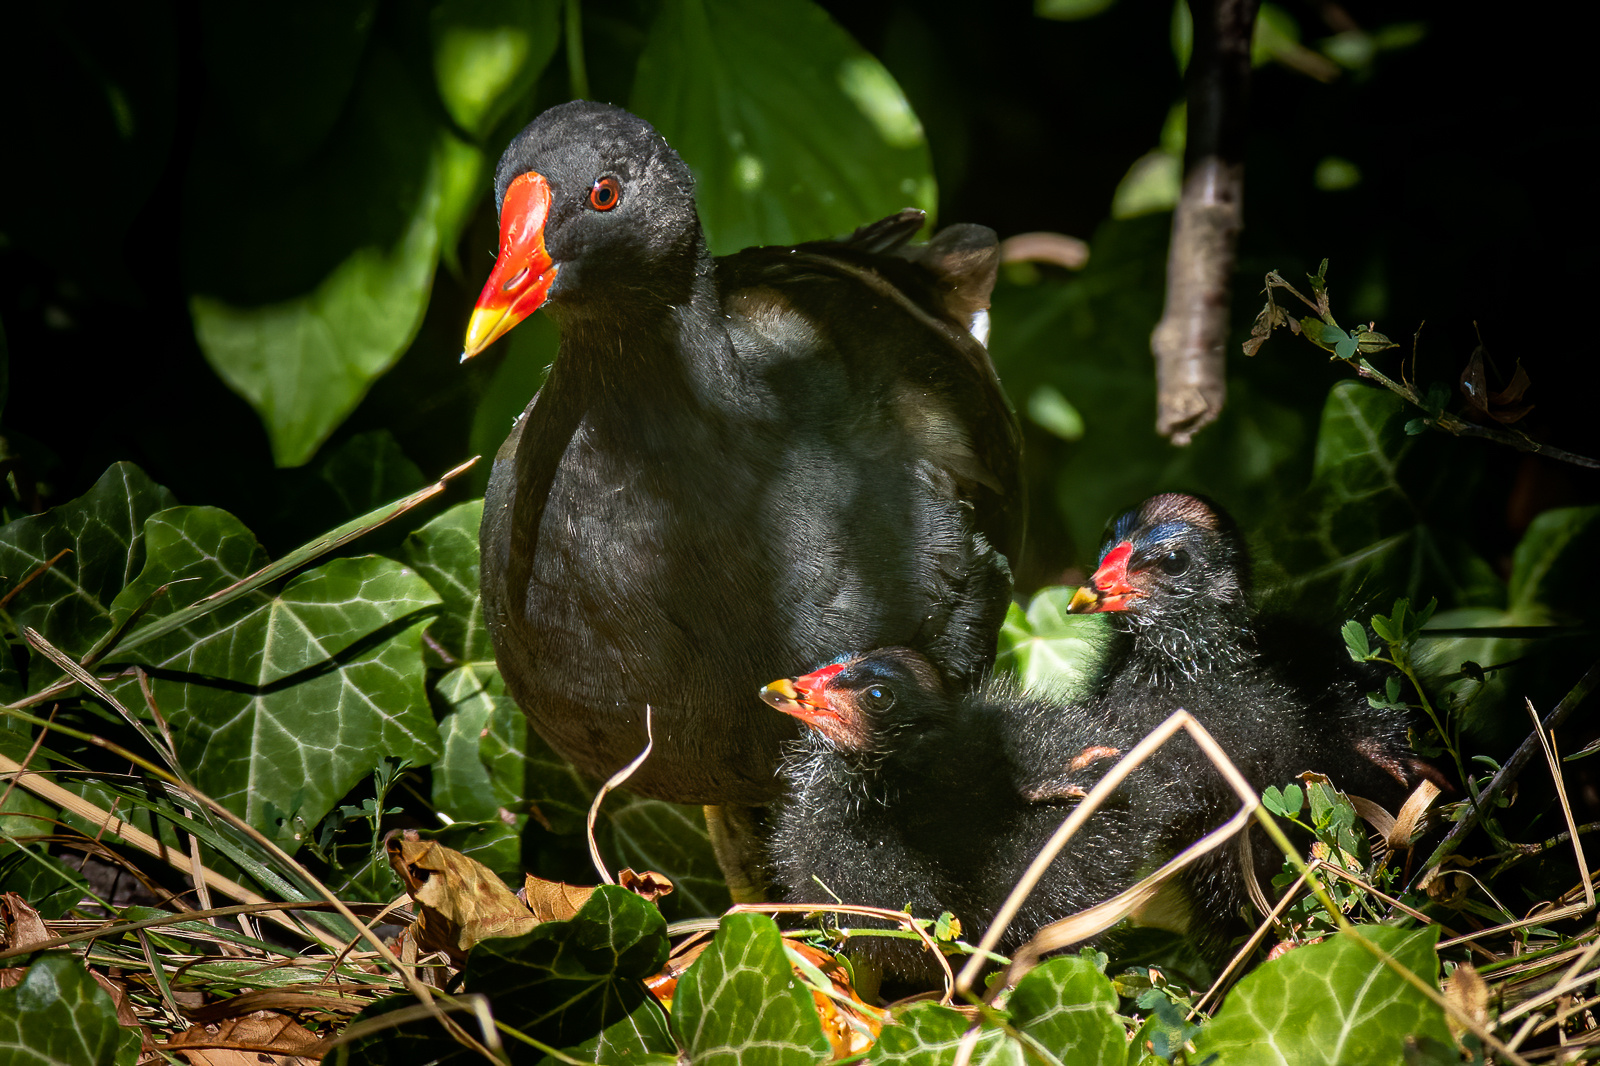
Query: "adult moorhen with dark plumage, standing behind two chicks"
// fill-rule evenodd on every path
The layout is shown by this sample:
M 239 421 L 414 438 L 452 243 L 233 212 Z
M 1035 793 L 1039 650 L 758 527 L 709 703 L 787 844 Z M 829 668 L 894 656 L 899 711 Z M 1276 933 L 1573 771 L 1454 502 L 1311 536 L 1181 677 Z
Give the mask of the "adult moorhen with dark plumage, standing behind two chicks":
M 483 610 L 506 683 L 579 768 L 646 795 L 758 804 L 795 663 L 909 645 L 987 672 L 1021 533 L 1019 432 L 968 331 L 994 232 L 922 248 L 902 211 L 842 242 L 714 259 L 688 166 L 574 101 L 494 173 L 501 251 L 467 355 L 539 306 L 562 331 L 494 461 Z

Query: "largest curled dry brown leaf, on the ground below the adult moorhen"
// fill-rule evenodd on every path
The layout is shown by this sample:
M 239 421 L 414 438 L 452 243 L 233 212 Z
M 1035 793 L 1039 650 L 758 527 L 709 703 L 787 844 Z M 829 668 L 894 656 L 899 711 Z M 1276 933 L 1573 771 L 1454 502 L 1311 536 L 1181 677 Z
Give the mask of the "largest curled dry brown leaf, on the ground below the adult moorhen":
M 414 834 L 389 834 L 389 864 L 418 904 L 418 948 L 443 951 L 461 965 L 478 941 L 520 936 L 539 924 L 483 863 Z

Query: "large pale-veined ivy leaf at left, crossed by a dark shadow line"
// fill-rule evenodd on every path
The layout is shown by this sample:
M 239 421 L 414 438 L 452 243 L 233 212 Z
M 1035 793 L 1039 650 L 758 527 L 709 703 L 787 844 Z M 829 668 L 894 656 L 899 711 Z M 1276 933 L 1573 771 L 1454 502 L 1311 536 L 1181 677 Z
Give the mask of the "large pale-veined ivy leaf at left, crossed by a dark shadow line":
M 254 552 L 237 520 L 211 509 L 165 512 L 152 528 L 163 547 L 128 602 L 173 573 L 197 576 L 200 587 L 232 576 L 221 554 L 197 554 L 186 531 L 219 533 L 235 562 Z M 278 816 L 315 824 L 379 755 L 438 754 L 422 690 L 422 623 L 411 619 L 437 602 L 394 560 L 336 559 L 278 595 L 251 592 L 130 655 L 160 671 L 152 691 L 197 784 L 258 829 L 290 834 L 293 826 L 274 824 Z M 141 706 L 131 682 L 122 690 Z

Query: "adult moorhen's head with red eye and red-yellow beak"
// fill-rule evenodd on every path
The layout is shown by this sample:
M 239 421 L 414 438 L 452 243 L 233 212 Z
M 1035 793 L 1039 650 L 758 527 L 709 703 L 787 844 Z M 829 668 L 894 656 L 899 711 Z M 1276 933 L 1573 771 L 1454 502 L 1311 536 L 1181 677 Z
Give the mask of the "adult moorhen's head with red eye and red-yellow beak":
M 501 248 L 467 323 L 475 355 L 550 303 L 563 317 L 688 299 L 706 246 L 694 179 L 643 118 L 573 101 L 534 118 L 494 168 Z

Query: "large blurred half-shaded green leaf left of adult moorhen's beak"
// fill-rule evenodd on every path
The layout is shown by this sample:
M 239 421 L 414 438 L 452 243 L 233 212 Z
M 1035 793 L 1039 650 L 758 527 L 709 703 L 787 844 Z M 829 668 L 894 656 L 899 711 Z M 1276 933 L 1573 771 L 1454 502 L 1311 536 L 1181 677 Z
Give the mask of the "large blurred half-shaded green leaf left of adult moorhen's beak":
M 482 197 L 486 160 L 432 117 L 430 80 L 374 42 L 326 139 L 294 165 L 240 168 L 238 144 L 210 128 L 195 150 L 195 336 L 280 466 L 306 463 L 406 349 L 440 248 Z

